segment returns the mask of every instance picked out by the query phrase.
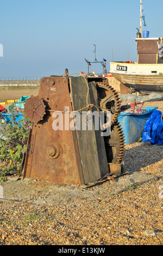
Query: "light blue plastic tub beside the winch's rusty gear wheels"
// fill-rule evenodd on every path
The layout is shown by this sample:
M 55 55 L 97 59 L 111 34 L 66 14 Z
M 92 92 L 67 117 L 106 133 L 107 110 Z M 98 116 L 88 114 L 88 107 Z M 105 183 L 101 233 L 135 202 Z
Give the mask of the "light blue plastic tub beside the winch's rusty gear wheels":
M 139 141 L 147 119 L 158 107 L 146 107 L 146 113 L 123 113 L 118 117 L 118 123 L 122 126 L 126 144 Z

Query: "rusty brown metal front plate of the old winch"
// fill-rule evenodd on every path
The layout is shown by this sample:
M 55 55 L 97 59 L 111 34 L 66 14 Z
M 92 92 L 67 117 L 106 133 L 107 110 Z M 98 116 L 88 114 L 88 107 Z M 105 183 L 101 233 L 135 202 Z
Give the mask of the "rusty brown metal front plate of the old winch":
M 68 80 L 43 77 L 38 96 L 46 106 L 46 114 L 30 132 L 23 178 L 83 184 L 76 131 L 54 131 L 52 127 L 53 111 L 65 111 L 65 107 L 72 111 Z

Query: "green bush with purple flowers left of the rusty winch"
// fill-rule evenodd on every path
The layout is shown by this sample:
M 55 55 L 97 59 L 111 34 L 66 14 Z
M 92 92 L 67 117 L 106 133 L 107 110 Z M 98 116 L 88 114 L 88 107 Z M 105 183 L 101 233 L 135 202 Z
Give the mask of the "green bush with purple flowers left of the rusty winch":
M 32 124 L 23 113 L 23 120 L 17 119 L 14 105 L 11 106 L 11 120 L 0 119 L 0 181 L 13 172 L 19 172 L 23 154 L 26 150 L 29 130 Z

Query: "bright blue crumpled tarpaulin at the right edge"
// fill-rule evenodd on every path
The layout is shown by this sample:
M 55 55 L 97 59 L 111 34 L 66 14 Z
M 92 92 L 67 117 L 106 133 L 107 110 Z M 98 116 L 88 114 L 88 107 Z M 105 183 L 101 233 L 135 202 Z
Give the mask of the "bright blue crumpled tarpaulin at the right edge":
M 142 142 L 148 141 L 152 144 L 163 144 L 163 120 L 161 121 L 162 113 L 155 110 L 146 121 L 142 132 Z

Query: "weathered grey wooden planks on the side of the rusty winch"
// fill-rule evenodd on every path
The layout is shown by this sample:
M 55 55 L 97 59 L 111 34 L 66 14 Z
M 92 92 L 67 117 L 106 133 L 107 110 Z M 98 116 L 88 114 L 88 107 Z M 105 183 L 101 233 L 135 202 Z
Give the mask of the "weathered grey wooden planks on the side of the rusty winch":
M 88 83 L 88 103 L 98 105 L 97 90 L 95 82 Z M 77 111 L 86 106 L 87 85 L 83 77 L 70 78 L 70 90 L 72 109 Z M 91 111 L 97 110 L 95 107 Z M 86 111 L 84 109 L 83 111 Z M 84 184 L 96 181 L 109 173 L 106 159 L 104 139 L 99 135 L 101 130 L 95 131 L 94 123 L 92 130 L 82 129 L 82 111 L 80 111 L 80 130 L 77 130 L 77 138 L 84 176 Z

